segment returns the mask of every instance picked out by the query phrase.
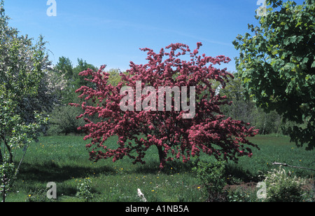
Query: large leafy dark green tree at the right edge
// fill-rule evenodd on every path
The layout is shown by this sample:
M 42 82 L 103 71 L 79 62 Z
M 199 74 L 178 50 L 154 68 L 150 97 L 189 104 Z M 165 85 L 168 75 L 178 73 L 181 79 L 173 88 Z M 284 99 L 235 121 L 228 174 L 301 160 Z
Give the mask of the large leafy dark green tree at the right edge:
M 285 121 L 298 146 L 315 147 L 315 1 L 267 0 L 267 15 L 260 26 L 248 25 L 253 34 L 233 41 L 238 76 L 259 107 L 275 110 Z M 304 123 L 304 127 L 299 124 Z

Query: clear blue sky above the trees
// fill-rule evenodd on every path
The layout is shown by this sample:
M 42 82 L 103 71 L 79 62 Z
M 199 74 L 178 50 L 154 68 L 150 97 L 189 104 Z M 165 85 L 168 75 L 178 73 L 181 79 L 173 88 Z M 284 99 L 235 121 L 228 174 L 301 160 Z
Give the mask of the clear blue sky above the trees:
M 5 0 L 10 26 L 21 34 L 48 41 L 50 60 L 56 64 L 65 56 L 73 66 L 77 58 L 107 69 L 129 69 L 130 61 L 146 63 L 139 48 L 160 48 L 186 43 L 193 50 L 202 42 L 200 53 L 225 55 L 232 59 L 228 70 L 235 71 L 238 55 L 232 45 L 237 34 L 256 25 L 257 0 L 55 0 L 57 16 L 46 11 L 47 0 Z

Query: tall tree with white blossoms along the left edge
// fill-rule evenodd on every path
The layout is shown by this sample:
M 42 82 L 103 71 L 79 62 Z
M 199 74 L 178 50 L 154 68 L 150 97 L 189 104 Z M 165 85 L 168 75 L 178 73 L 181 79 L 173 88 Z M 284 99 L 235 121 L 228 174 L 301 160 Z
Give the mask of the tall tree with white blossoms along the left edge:
M 1 1 L 0 194 L 3 201 L 29 144 L 37 139 L 48 121 L 48 111 L 58 100 L 57 88 L 62 88 L 62 81 L 50 67 L 43 37 L 34 43 L 9 27 L 8 20 Z M 18 149 L 24 154 L 13 160 Z

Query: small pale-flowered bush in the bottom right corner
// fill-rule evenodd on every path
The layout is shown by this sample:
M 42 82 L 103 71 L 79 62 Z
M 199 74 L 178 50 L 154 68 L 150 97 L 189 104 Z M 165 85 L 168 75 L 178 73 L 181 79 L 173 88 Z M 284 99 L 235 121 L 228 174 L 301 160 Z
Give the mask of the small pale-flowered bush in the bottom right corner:
M 272 170 L 268 172 L 265 178 L 267 185 L 268 202 L 299 202 L 302 201 L 302 186 L 306 181 L 300 177 L 293 176 L 292 173 L 286 173 L 286 170 Z

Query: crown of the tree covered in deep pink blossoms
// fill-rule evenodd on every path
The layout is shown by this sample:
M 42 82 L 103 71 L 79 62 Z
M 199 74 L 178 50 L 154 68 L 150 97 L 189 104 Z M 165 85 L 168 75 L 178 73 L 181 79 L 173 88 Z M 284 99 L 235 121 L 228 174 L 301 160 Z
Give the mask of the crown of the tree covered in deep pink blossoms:
M 214 67 L 230 62 L 230 58 L 200 56 L 200 46 L 202 43 L 197 43 L 197 48 L 191 52 L 185 44 L 172 43 L 165 48 L 169 53 L 163 48 L 160 53 L 143 48 L 141 50 L 148 53 L 148 63 L 130 62 L 130 69 L 120 74 L 117 86 L 109 83 L 109 74 L 104 72 L 106 66 L 97 72 L 87 69 L 80 73 L 80 76 L 92 75 L 92 79 L 86 80 L 94 83 L 94 87 L 82 86 L 76 90 L 85 101 L 70 105 L 83 109 L 78 119 L 85 118 L 86 125 L 79 130 L 85 130 L 84 139 L 91 140 L 86 146 L 91 160 L 113 158 L 115 162 L 128 156 L 134 163 L 145 163 L 144 156 L 151 147 L 158 148 L 160 168 L 174 158 L 182 158 L 185 163 L 191 156 L 200 156 L 201 151 L 232 161 L 237 161 L 239 156 L 252 156 L 250 147 L 257 146 L 247 137 L 258 131 L 249 123 L 224 116 L 220 106 L 231 102 L 217 95 L 213 86 L 214 81 L 218 81 L 224 88 L 228 78 L 233 77 L 226 68 Z M 180 59 L 186 53 L 190 61 Z M 187 92 L 183 87 L 194 87 L 195 92 L 192 88 Z M 166 88 L 173 91 L 167 95 L 166 90 L 162 91 Z M 182 96 L 181 109 L 179 95 Z M 93 118 L 97 122 L 93 122 Z M 114 135 L 118 136 L 117 147 L 111 149 L 106 146 L 106 140 Z

